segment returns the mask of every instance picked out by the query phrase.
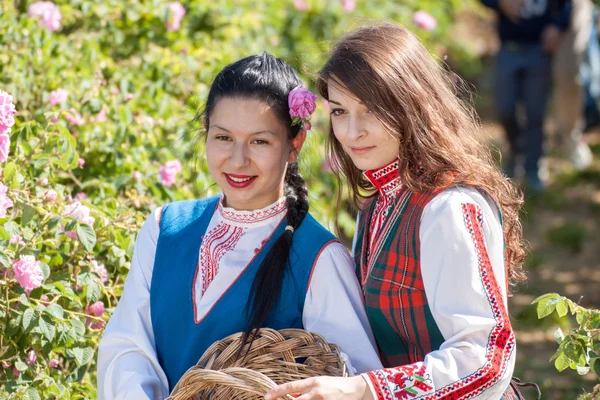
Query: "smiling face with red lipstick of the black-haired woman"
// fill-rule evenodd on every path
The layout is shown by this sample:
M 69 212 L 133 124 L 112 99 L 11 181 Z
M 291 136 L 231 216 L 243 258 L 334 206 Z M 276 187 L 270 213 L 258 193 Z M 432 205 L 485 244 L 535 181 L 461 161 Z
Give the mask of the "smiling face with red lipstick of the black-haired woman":
M 285 171 L 304 141 L 290 141 L 288 127 L 262 101 L 220 99 L 210 115 L 206 138 L 208 169 L 236 210 L 264 208 L 283 196 Z

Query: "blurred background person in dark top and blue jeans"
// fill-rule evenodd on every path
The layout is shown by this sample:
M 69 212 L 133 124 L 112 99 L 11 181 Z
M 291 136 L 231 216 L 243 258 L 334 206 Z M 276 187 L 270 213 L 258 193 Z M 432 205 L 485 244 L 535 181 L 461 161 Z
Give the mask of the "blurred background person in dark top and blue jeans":
M 552 55 L 571 19 L 570 0 L 481 0 L 498 14 L 501 47 L 497 55 L 495 102 L 506 131 L 505 173 L 517 177 L 521 160 L 526 187 L 544 189 L 540 159 L 544 117 L 550 98 Z M 522 105 L 524 117 L 517 107 Z M 523 120 L 524 119 L 524 120 Z

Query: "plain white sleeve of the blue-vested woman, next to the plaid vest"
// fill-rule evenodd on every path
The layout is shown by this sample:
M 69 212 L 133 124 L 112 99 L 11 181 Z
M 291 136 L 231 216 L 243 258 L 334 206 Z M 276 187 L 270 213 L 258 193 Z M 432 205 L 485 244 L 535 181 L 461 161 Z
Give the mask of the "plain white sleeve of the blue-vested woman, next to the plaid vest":
M 302 319 L 306 330 L 341 348 L 355 370 L 351 373 L 382 367 L 354 262 L 339 242 L 328 244 L 316 260 Z

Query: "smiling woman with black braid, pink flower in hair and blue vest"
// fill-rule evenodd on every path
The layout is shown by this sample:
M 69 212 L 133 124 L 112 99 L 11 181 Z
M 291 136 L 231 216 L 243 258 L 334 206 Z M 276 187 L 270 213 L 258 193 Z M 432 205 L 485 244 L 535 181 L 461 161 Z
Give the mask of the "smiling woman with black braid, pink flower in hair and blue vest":
M 222 194 L 144 224 L 100 343 L 99 399 L 164 399 L 215 341 L 261 327 L 304 328 L 357 372 L 381 367 L 352 259 L 308 212 L 297 158 L 315 99 L 266 53 L 216 76 L 197 118 Z

